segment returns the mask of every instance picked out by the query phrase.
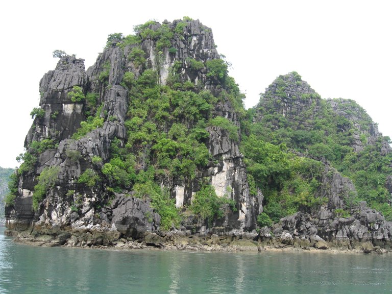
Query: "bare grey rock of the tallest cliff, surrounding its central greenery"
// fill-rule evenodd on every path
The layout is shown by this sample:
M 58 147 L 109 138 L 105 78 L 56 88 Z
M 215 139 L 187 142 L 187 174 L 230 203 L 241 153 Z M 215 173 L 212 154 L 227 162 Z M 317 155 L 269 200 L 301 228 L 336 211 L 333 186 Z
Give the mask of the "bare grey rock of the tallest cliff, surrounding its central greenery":
M 137 46 L 115 39 L 108 42 L 107 48 L 87 71 L 84 60 L 64 56 L 55 70 L 44 75 L 40 81 L 40 107 L 44 114 L 35 117 L 26 137 L 28 153 L 34 160 L 28 165 L 25 159 L 26 168 L 20 173 L 18 195 L 14 205 L 6 209 L 8 228 L 23 230 L 33 226 L 34 230 L 52 233 L 58 230 L 114 230 L 119 236 L 133 238 L 159 230 L 161 218 L 150 200 L 131 197 L 132 187 L 114 192 L 111 187 L 115 179 L 108 178 L 102 171 L 104 164 L 112 159 L 113 142 L 120 148 L 127 144 L 129 130 L 125 122 L 129 119 L 127 113 L 133 86 L 124 82 L 126 75 L 137 80 L 145 70 L 153 69 L 158 73 L 160 85 L 172 85 L 175 76 L 179 85 L 191 82 L 193 91 L 208 90 L 219 96 L 211 116 L 225 117 L 237 127 L 240 138 L 236 111 L 225 97 L 223 82 L 219 77 L 208 76 L 205 65 L 219 57 L 211 30 L 199 20 L 154 22 L 148 29 L 153 32 L 162 26 L 170 32 L 176 31 L 169 34 L 169 45 L 159 45 L 162 38 L 152 36 L 141 37 Z M 134 58 L 135 47 L 142 50 L 141 62 Z M 194 65 L 195 61 L 199 62 L 199 67 Z M 77 91 L 75 87 L 81 88 L 83 100 L 72 100 L 72 92 Z M 93 95 L 88 96 L 91 93 Z M 96 106 L 102 107 L 93 106 L 89 97 L 93 97 Z M 184 117 L 181 123 L 189 129 L 194 127 L 191 118 Z M 88 129 L 89 124 L 93 127 Z M 81 127 L 86 130 L 83 134 Z M 227 209 L 225 216 L 216 219 L 207 231 L 204 223 L 195 225 L 193 221 L 192 224 L 185 221 L 184 229 L 191 227 L 194 232 L 214 230 L 217 233 L 253 230 L 261 203 L 250 195 L 239 141 L 229 138 L 228 131 L 222 127 L 207 126 L 205 131 L 209 134 L 204 141 L 210 162 L 198 167 L 194 178 L 158 177 L 156 181 L 170 191 L 180 209 L 191 204 L 202 177 L 209 179 L 217 197 L 234 202 L 236 209 Z M 44 147 L 44 143 L 50 144 Z M 147 148 L 151 146 L 138 149 L 136 172 L 144 171 L 148 162 L 156 160 L 146 155 Z M 33 194 L 39 176 L 52 167 L 57 172 L 55 184 L 46 189 L 34 210 Z M 92 184 L 81 180 L 85 175 Z

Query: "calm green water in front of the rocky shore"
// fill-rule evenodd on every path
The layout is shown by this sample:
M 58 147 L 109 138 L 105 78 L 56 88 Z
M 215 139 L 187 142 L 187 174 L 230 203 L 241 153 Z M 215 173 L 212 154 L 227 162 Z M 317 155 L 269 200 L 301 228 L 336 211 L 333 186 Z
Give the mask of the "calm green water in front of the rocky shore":
M 392 293 L 392 255 L 23 246 L 0 228 L 0 293 Z

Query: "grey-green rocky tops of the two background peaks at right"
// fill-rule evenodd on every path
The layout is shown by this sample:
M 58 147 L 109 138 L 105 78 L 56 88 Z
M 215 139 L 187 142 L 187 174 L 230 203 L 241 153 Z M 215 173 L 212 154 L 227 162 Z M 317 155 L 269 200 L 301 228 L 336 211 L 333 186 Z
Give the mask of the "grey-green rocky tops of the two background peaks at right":
M 377 124 L 353 100 L 323 100 L 297 72 L 279 76 L 261 95 L 255 107 L 254 122 L 262 122 L 271 130 L 290 128 L 293 131 L 314 131 L 331 124 L 336 132 L 346 137 L 344 144 L 354 152 L 361 152 L 366 145 L 375 145 L 382 136 Z M 330 130 L 324 129 L 324 136 Z M 381 155 L 392 149 L 383 140 Z

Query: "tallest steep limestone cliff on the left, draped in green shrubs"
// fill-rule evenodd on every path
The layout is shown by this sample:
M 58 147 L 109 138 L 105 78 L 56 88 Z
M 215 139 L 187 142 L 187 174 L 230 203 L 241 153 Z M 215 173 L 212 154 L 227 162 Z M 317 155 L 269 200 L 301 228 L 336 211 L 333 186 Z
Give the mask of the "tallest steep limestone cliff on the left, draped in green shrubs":
M 87 71 L 62 54 L 41 79 L 10 230 L 66 232 L 62 243 L 75 246 L 85 234 L 107 245 L 256 228 L 261 203 L 249 192 L 233 107 L 242 101 L 211 29 L 184 19 L 135 32 L 110 35 Z

